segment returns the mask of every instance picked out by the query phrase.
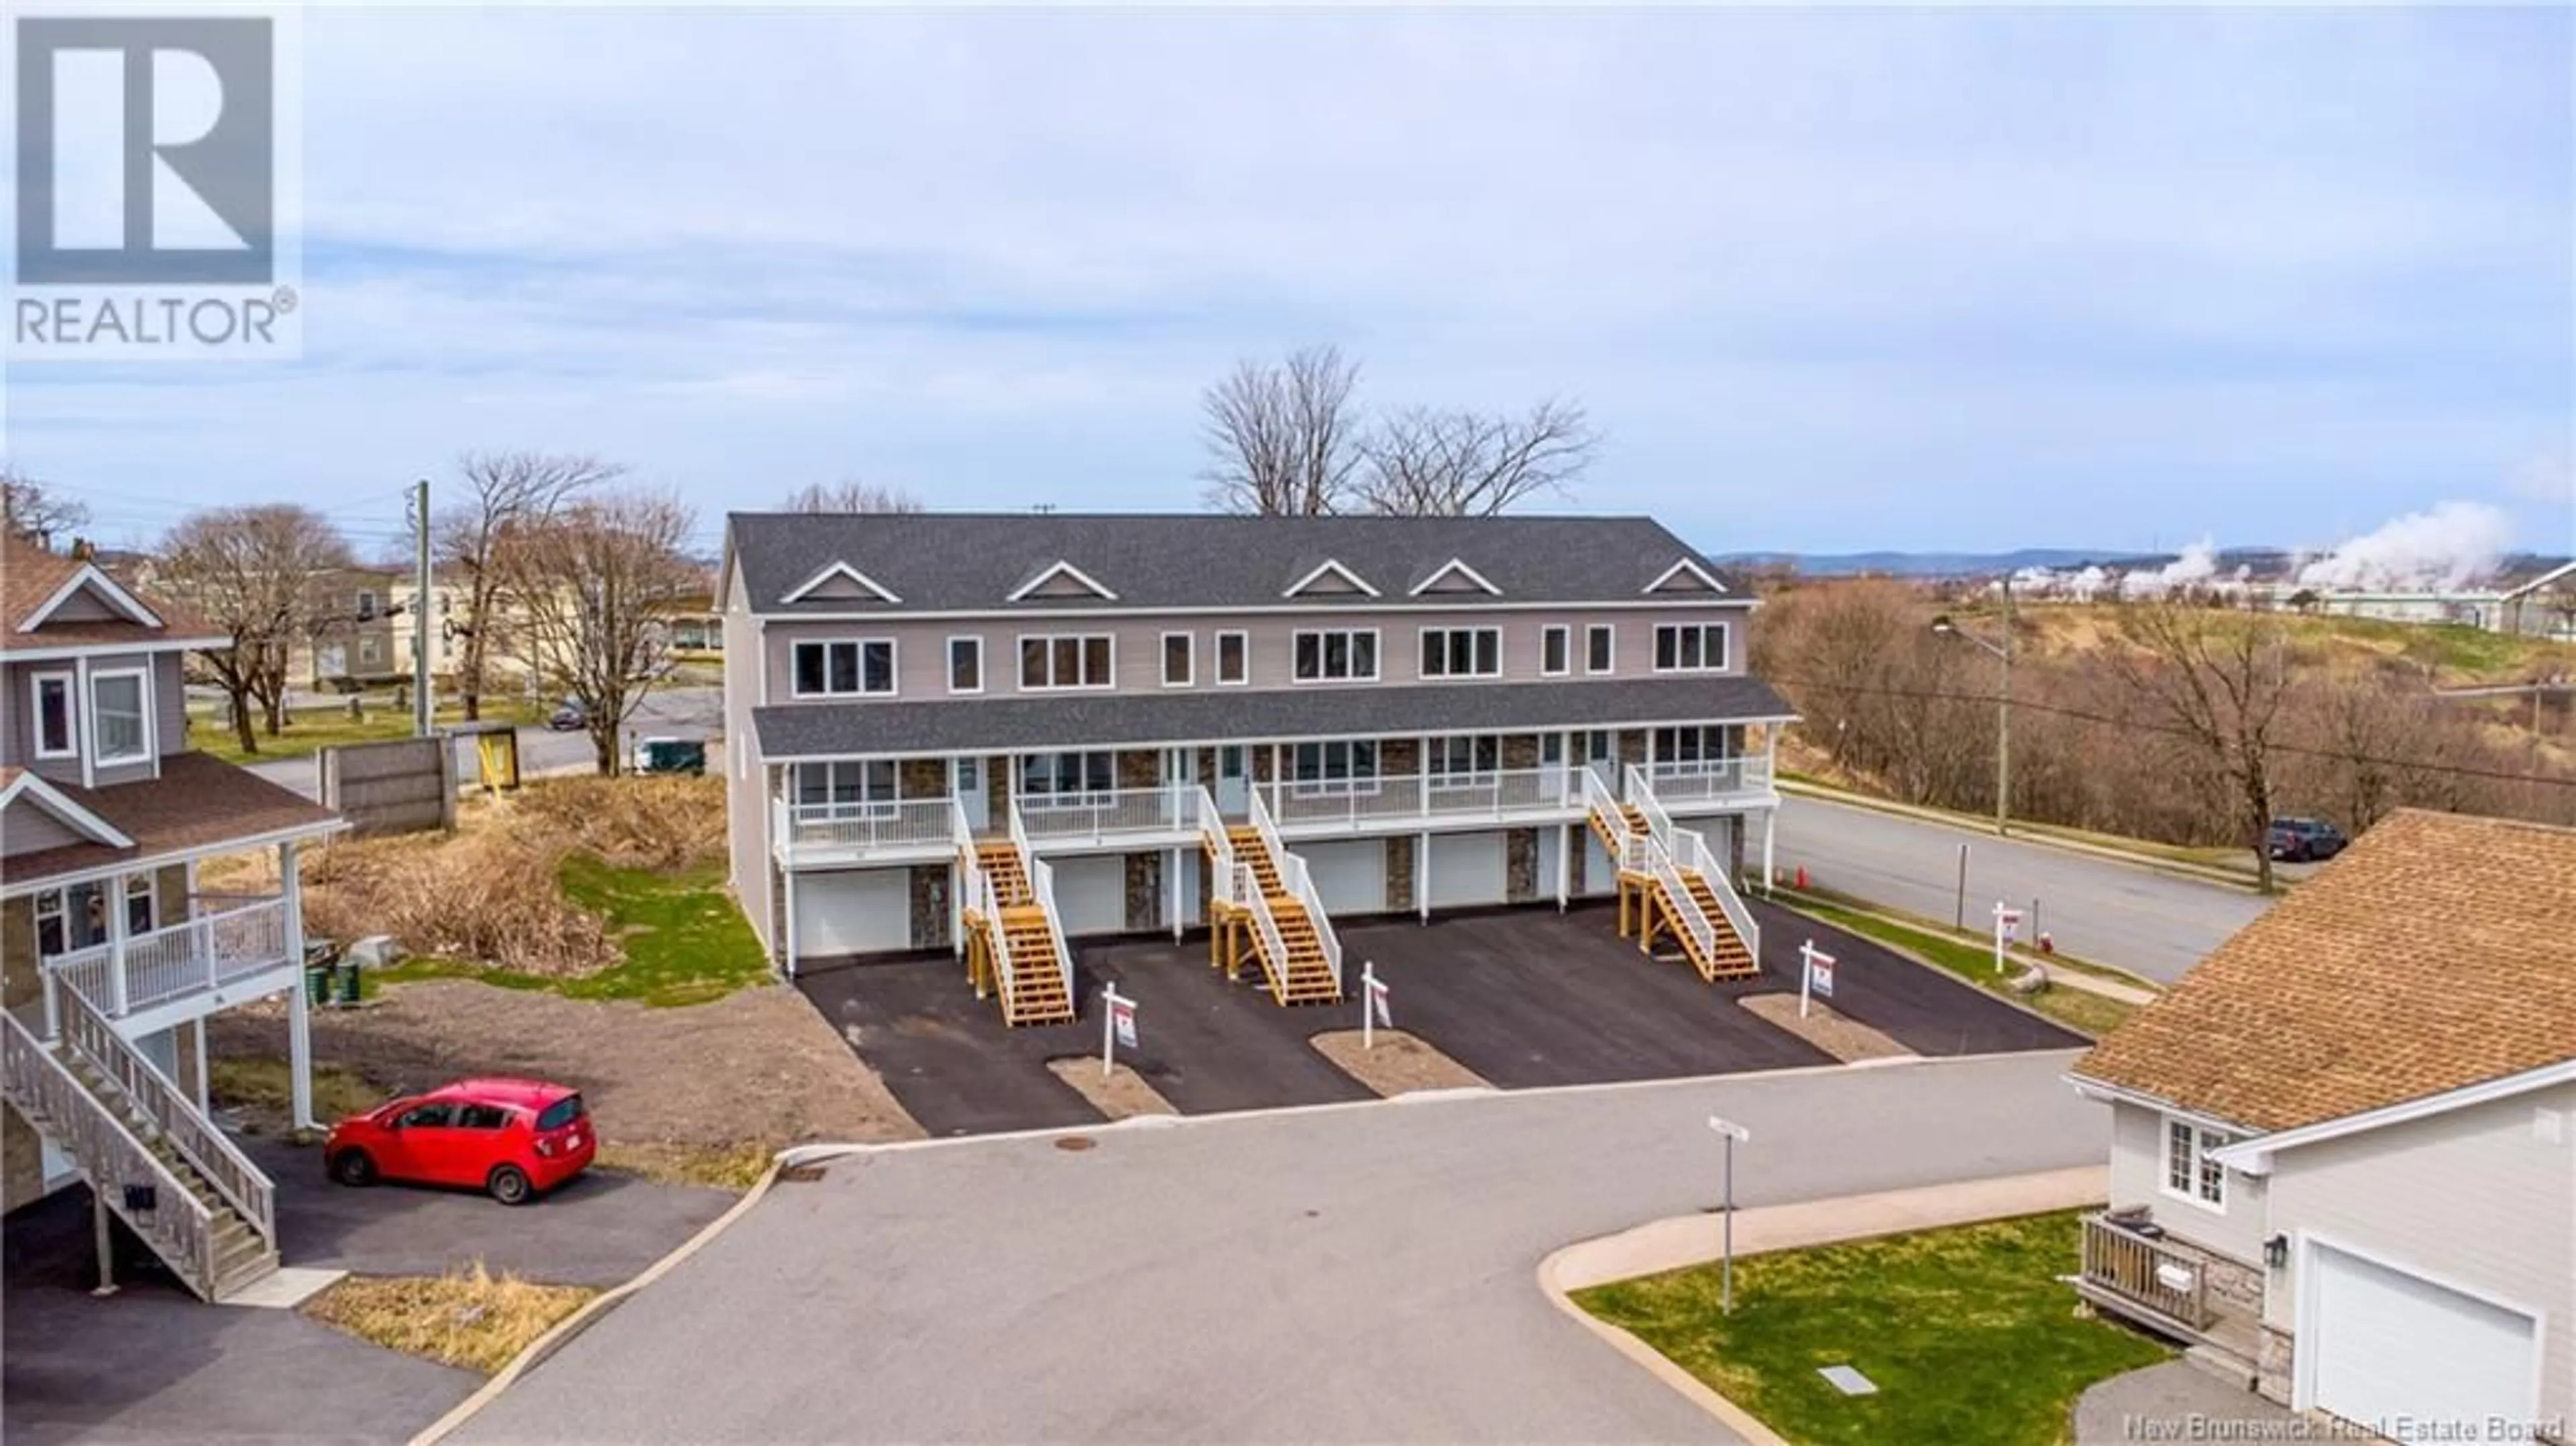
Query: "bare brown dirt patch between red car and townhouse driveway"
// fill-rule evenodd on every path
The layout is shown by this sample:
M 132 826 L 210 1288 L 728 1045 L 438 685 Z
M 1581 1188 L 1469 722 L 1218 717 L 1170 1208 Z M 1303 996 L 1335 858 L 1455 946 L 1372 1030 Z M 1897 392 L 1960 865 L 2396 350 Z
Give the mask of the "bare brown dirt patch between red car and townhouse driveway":
M 224 1010 L 214 1057 L 286 1057 L 286 1008 Z M 582 1090 L 616 1144 L 799 1144 L 920 1139 L 876 1077 L 783 985 L 685 1008 L 567 1000 L 474 979 L 392 985 L 371 1008 L 314 1010 L 314 1062 L 381 1090 L 461 1075 L 538 1075 Z

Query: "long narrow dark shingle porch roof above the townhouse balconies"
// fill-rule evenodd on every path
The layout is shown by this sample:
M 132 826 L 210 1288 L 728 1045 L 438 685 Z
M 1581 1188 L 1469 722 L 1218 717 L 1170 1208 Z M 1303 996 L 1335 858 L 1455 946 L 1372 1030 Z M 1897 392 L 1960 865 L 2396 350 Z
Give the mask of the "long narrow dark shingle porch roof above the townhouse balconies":
M 1788 719 L 1759 678 L 1620 678 L 1602 683 L 1432 683 L 1412 688 L 1265 688 L 1203 693 L 1056 693 L 920 704 L 752 709 L 762 758 L 1020 753 L 1213 740 Z

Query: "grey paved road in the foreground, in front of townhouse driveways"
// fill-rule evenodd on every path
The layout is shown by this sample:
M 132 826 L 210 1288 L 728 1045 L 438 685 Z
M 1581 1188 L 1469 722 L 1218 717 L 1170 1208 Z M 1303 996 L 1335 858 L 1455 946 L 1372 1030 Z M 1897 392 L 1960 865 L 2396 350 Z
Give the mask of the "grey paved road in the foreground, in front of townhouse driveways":
M 2102 1160 L 2071 1057 L 1417 1098 L 845 1160 L 456 1441 L 1726 1441 L 1561 1317 L 1564 1242 Z

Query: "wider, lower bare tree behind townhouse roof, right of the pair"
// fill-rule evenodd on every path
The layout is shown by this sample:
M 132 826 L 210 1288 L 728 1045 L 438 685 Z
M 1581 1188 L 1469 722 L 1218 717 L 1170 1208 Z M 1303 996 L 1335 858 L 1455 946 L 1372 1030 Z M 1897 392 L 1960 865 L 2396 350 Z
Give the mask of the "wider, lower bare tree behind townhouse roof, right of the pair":
M 1600 436 L 1574 402 L 1546 400 L 1520 418 L 1414 407 L 1360 443 L 1368 467 L 1355 505 L 1406 518 L 1492 518 L 1540 492 L 1571 492 Z

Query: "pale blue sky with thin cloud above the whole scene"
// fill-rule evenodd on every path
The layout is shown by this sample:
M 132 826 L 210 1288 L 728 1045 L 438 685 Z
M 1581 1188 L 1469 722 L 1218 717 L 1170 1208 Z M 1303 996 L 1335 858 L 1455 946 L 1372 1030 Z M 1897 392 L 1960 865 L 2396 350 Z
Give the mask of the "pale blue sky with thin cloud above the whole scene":
M 2563 8 L 325 10 L 307 348 L 21 366 L 111 541 L 461 448 L 1193 508 L 1200 387 L 1582 400 L 1716 552 L 2576 544 Z

